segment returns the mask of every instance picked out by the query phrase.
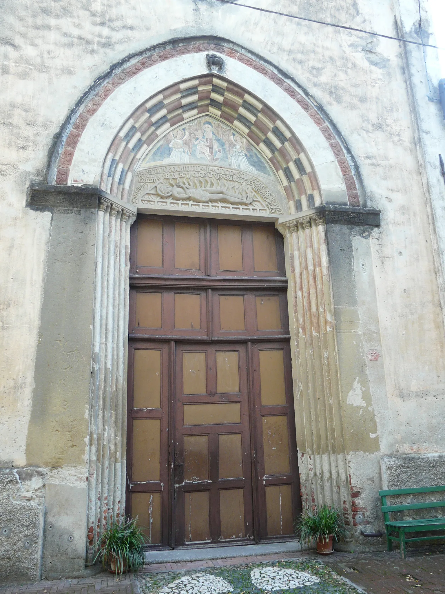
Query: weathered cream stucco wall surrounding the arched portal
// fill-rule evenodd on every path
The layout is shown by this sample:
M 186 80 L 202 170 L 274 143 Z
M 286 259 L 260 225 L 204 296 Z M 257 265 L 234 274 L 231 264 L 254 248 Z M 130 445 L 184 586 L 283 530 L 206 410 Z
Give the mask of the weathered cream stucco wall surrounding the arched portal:
M 403 0 L 401 8 L 390 0 L 363 0 L 360 5 L 329 0 L 256 4 L 419 39 L 414 0 Z M 423 4 L 422 11 L 427 31 Z M 445 154 L 445 127 L 440 106 L 427 97 L 421 48 L 405 50 L 395 40 L 213 0 L 68 4 L 9 0 L 2 13 L 2 466 L 54 465 L 65 467 L 63 472 L 69 475 L 70 466 L 82 457 L 72 458 L 66 450 L 66 456 L 57 460 L 43 454 L 36 458 L 28 456 L 26 448 L 27 440 L 35 440 L 28 427 L 33 394 L 37 397 L 34 364 L 51 233 L 51 214 L 26 208 L 27 190 L 31 182 L 46 180 L 62 124 L 97 77 L 132 53 L 189 36 L 239 43 L 306 89 L 351 150 L 367 206 L 382 210 L 380 229 L 366 236 L 338 235 L 329 245 L 345 443 L 355 484 L 366 488 L 379 468 L 381 453 L 445 450 L 440 290 L 445 192 L 436 158 L 439 152 Z M 438 79 L 434 50 L 426 49 L 425 55 L 434 99 Z M 157 78 L 162 77 L 162 68 L 160 64 Z M 189 76 L 188 68 L 184 56 L 177 76 Z M 150 94 L 148 81 L 146 96 Z M 104 122 L 104 128 L 108 124 Z M 360 361 L 348 360 L 357 343 Z M 63 482 L 63 472 L 58 481 Z M 371 501 L 362 507 L 370 505 Z

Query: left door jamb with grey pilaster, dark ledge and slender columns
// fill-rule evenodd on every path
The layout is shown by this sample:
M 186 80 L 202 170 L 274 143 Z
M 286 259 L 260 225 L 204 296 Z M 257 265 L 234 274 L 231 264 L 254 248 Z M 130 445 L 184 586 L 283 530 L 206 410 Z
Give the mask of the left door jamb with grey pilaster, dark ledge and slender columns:
M 125 508 L 129 238 L 135 207 L 97 188 L 34 186 L 50 213 L 27 465 L 47 473 L 43 571 L 79 573 Z

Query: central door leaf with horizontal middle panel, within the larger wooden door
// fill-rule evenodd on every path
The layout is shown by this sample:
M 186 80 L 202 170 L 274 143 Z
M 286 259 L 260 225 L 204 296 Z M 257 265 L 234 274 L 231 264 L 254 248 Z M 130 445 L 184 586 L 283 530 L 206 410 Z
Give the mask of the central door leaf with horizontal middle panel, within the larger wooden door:
M 246 345 L 176 349 L 176 543 L 253 538 Z

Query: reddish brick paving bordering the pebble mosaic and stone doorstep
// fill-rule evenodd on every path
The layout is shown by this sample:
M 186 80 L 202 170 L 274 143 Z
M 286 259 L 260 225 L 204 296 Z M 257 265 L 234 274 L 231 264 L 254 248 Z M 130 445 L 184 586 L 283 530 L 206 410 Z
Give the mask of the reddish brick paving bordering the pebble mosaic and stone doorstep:
M 144 574 L 171 571 L 227 568 L 230 565 L 262 563 L 290 559 L 316 558 L 346 577 L 367 594 L 445 594 L 445 546 L 408 549 L 401 559 L 398 551 L 371 553 L 335 552 L 319 557 L 312 552 L 253 555 L 205 561 L 182 561 L 146 565 Z M 54 580 L 23 586 L 0 587 L 0 594 L 139 594 L 139 585 L 132 574 L 115 577 L 101 573 L 90 578 Z

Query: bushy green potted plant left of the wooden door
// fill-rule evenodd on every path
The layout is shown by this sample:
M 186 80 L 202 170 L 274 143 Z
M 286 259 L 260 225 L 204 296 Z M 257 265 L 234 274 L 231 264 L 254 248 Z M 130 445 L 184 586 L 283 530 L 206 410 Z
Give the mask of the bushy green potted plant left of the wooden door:
M 137 517 L 113 522 L 97 543 L 94 561 L 100 557 L 103 568 L 116 576 L 126 571 L 134 573 L 144 567 L 144 545 L 148 543 L 148 539 L 141 528 L 136 526 L 136 520 Z

